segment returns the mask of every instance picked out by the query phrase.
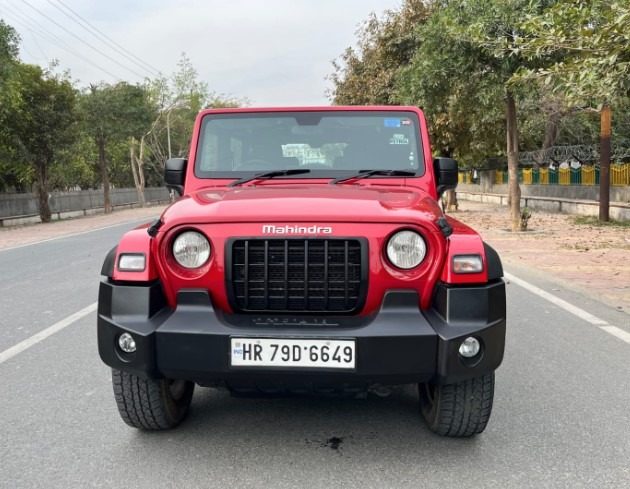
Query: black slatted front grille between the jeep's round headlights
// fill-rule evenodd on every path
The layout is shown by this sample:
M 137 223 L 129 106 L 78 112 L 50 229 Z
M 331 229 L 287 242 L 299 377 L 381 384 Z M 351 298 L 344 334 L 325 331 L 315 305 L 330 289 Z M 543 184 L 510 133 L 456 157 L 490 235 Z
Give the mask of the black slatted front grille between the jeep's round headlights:
M 366 246 L 357 239 L 231 243 L 228 291 L 241 311 L 354 312 L 365 299 Z M 231 282 L 231 283 L 230 283 Z

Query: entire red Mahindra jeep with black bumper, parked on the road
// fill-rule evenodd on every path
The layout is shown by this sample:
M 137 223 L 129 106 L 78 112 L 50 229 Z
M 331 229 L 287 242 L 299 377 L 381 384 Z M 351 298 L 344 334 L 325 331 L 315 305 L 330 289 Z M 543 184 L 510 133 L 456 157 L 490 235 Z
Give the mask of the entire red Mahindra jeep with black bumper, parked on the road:
M 439 199 L 415 107 L 197 117 L 179 195 L 107 255 L 98 346 L 122 419 L 186 417 L 195 386 L 361 396 L 415 384 L 434 432 L 481 433 L 505 344 L 497 253 Z

